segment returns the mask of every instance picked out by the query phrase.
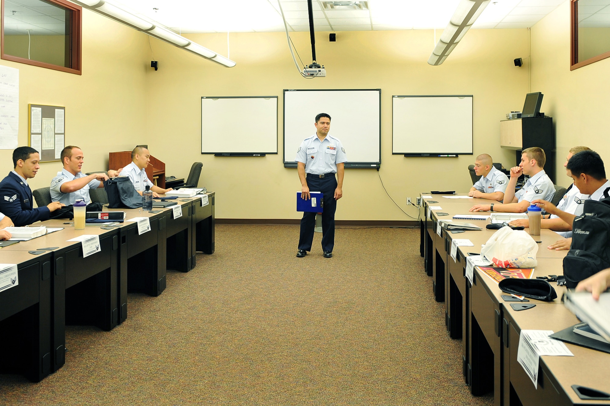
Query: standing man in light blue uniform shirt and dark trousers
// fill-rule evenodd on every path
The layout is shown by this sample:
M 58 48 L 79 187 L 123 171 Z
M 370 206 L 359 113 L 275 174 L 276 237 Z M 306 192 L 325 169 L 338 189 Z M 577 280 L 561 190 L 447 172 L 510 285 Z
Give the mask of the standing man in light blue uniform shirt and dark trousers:
M 323 194 L 322 210 L 322 251 L 325 258 L 332 258 L 335 245 L 335 211 L 337 200 L 343 196 L 343 175 L 347 156 L 341 141 L 328 135 L 331 129 L 331 116 L 320 113 L 315 116 L 316 133 L 305 138 L 296 151 L 299 179 L 301 180 L 301 199 L 309 200 L 310 190 Z M 337 178 L 335 178 L 337 174 Z M 311 251 L 314 242 L 315 214 L 303 212 L 301 233 L 296 256 L 303 258 Z

